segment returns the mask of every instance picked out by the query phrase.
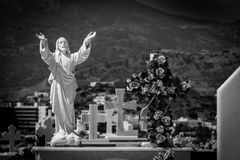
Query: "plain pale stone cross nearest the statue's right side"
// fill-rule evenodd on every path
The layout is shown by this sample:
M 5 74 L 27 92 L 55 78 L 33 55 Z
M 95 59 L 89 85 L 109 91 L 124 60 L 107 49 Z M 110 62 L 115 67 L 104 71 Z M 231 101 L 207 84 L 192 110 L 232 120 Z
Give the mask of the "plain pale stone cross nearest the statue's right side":
M 82 113 L 82 123 L 89 124 L 89 139 L 97 139 L 97 123 L 106 122 L 107 116 L 105 113 L 98 113 L 98 105 L 90 104 L 89 113 Z

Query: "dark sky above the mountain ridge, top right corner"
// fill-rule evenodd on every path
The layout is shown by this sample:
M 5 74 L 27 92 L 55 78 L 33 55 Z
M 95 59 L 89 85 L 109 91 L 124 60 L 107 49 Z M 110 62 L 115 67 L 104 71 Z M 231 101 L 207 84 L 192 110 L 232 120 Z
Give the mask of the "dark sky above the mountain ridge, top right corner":
M 240 19 L 238 0 L 135 0 L 150 8 L 176 16 L 232 23 Z

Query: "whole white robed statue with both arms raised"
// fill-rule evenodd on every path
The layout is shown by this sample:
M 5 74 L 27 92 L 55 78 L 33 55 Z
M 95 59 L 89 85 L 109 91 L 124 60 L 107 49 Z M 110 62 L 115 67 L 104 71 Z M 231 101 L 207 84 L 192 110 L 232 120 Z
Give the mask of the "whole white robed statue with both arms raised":
M 47 38 L 42 33 L 36 36 L 40 40 L 41 58 L 51 71 L 48 82 L 51 85 L 50 104 L 55 116 L 55 134 L 50 144 L 55 146 L 75 143 L 77 140 L 74 134 L 74 99 L 77 83 L 74 70 L 89 57 L 91 42 L 96 32 L 90 32 L 75 53 L 71 53 L 68 41 L 64 37 L 57 39 L 55 52 L 52 53 Z

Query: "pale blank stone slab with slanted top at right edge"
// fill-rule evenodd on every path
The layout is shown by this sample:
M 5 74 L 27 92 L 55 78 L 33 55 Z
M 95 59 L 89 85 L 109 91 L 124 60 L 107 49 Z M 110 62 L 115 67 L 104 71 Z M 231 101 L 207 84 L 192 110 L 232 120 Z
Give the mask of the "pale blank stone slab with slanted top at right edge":
M 240 67 L 217 90 L 217 159 L 240 157 Z

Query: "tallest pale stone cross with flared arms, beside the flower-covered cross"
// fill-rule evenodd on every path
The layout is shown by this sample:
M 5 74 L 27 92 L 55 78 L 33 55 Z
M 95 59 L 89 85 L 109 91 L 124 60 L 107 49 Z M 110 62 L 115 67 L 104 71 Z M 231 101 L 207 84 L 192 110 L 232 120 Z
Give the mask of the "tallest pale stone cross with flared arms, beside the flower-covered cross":
M 130 110 L 136 110 L 137 108 L 137 102 L 136 101 L 129 101 L 124 102 L 124 94 L 125 89 L 122 88 L 116 88 L 115 89 L 116 95 L 117 95 L 117 102 L 109 102 L 105 101 L 105 109 L 116 109 L 117 110 L 117 136 L 123 136 L 123 135 L 129 135 L 132 134 L 133 131 L 124 131 L 123 127 L 123 109 L 130 109 Z M 137 134 L 137 132 L 135 133 Z

